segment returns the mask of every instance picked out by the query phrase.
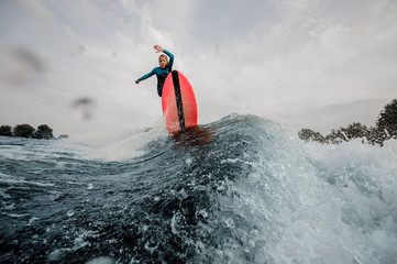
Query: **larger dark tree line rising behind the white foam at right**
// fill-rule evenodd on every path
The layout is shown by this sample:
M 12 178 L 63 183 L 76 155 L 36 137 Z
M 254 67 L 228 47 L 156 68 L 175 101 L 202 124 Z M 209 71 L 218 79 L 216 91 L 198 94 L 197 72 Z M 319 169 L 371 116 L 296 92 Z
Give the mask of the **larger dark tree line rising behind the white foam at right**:
M 376 127 L 366 127 L 361 123 L 352 123 L 346 128 L 332 130 L 323 136 L 321 133 L 310 129 L 302 129 L 298 133 L 306 142 L 317 141 L 326 144 L 340 144 L 353 139 L 362 139 L 364 143 L 383 146 L 384 141 L 397 139 L 397 99 L 384 107 L 376 120 Z

